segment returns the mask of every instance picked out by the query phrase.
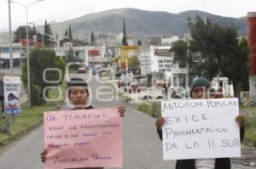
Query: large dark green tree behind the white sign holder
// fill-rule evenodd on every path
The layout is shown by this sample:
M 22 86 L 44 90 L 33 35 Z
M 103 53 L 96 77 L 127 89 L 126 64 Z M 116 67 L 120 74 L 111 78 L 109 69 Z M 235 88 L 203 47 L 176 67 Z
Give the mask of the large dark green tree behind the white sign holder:
M 245 39 L 238 41 L 236 28 L 232 25 L 221 27 L 210 20 L 205 24 L 200 17 L 190 29 L 203 59 L 201 75 L 209 80 L 217 75 L 228 77 L 233 83 L 235 96 L 239 97 L 241 82 L 248 76 Z

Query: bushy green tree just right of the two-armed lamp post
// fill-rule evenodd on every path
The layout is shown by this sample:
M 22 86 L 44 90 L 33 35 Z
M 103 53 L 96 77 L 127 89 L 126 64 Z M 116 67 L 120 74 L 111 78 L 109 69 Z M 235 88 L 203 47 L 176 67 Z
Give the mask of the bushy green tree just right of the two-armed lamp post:
M 26 73 L 26 62 L 22 66 L 21 70 L 21 81 L 27 87 L 27 73 Z M 53 50 L 33 48 L 30 54 L 30 75 L 31 75 L 31 87 L 32 92 L 39 94 L 38 100 L 32 100 L 33 104 L 42 104 L 44 87 L 56 86 L 59 83 L 48 83 L 43 80 L 44 70 L 47 68 L 59 68 L 61 70 L 61 82 L 65 73 L 65 62 L 60 57 L 55 55 Z M 56 81 L 59 79 L 59 73 L 56 71 L 48 71 L 46 73 L 46 79 L 48 81 Z M 47 95 L 48 93 L 46 93 Z M 33 93 L 32 93 L 33 95 Z

